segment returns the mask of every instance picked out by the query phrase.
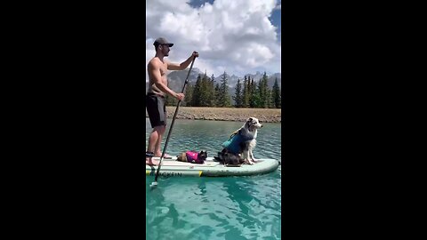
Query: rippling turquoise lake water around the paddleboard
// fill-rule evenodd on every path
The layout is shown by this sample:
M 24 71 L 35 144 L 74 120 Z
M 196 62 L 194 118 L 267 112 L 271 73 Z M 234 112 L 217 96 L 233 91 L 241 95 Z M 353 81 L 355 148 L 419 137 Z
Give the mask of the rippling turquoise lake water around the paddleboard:
M 262 124 L 254 157 L 281 159 L 281 124 Z M 166 153 L 207 150 L 216 156 L 242 125 L 175 120 Z M 146 141 L 150 131 L 147 118 Z M 248 177 L 159 177 L 152 190 L 154 177 L 146 179 L 146 239 L 281 239 L 281 165 L 275 172 Z

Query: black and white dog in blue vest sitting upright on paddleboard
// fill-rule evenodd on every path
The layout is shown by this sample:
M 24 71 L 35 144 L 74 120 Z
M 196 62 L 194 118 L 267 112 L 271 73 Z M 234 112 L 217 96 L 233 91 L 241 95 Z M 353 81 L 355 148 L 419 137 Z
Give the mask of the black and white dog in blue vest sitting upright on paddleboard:
M 257 118 L 248 118 L 246 123 L 230 136 L 229 140 L 222 143 L 222 152 L 218 152 L 218 157 L 215 159 L 224 164 L 254 164 L 253 151 L 260 128 L 262 128 L 262 124 Z

